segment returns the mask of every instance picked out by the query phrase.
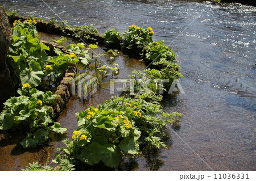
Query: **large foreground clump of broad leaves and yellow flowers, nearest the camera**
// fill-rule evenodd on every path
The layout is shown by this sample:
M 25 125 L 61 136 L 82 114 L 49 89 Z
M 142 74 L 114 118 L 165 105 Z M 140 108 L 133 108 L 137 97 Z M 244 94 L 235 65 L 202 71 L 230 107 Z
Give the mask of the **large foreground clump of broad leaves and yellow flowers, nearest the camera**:
M 102 162 L 116 167 L 123 155 L 134 155 L 143 149 L 166 148 L 162 138 L 167 123 L 179 120 L 179 113 L 164 113 L 160 104 L 113 97 L 98 108 L 90 107 L 77 113 L 78 128 L 72 140 L 59 149 L 56 159 L 67 158 L 74 165 Z

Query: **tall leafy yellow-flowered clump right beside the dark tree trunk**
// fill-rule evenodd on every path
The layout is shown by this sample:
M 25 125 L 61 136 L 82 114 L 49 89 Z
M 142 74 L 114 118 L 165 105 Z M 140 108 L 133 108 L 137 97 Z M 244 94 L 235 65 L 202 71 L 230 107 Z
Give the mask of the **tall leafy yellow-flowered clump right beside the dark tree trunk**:
M 45 50 L 49 48 L 38 40 L 35 24 L 35 20 L 25 20 L 23 23 L 15 20 L 13 23 L 13 39 L 6 62 L 16 87 L 20 83 L 38 86 L 48 62 Z

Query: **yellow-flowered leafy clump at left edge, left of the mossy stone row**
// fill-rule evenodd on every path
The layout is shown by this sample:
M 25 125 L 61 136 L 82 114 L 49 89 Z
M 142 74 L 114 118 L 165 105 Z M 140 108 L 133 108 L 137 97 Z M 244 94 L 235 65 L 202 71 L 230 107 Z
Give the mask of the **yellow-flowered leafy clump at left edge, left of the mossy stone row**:
M 18 97 L 8 99 L 0 115 L 0 129 L 26 130 L 27 136 L 20 144 L 23 148 L 35 148 L 48 140 L 49 132 L 65 133 L 60 123 L 54 123 L 52 107 L 47 106 L 55 100 L 52 92 L 46 93 L 31 89 L 28 83 L 18 90 Z

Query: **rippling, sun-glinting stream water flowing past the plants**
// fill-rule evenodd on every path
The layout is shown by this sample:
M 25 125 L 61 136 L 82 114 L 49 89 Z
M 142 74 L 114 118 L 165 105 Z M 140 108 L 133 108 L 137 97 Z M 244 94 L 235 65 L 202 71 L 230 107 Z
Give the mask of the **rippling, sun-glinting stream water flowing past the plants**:
M 255 7 L 205 1 L 44 2 L 69 24 L 95 24 L 100 33 L 124 32 L 131 24 L 152 27 L 153 38 L 176 52 L 185 94 L 166 97 L 163 106 L 183 113 L 181 129 L 169 129 L 172 147 L 160 151 L 158 166 L 138 158 L 137 170 L 256 170 Z M 0 0 L 19 14 L 59 20 L 44 2 Z M 119 57 L 126 71 L 143 69 L 136 61 L 122 62 Z M 100 91 L 85 103 L 73 97 L 60 117 L 63 127 L 76 124 L 73 112 L 109 98 L 107 89 Z

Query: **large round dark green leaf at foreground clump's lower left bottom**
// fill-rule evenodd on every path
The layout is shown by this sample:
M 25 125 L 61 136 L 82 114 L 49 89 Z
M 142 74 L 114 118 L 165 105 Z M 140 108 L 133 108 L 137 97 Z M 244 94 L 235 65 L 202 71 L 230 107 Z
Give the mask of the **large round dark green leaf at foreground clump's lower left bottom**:
M 94 165 L 101 161 L 104 153 L 105 146 L 98 144 L 97 142 L 93 142 L 89 146 L 86 146 L 80 154 L 80 160 L 89 165 Z

